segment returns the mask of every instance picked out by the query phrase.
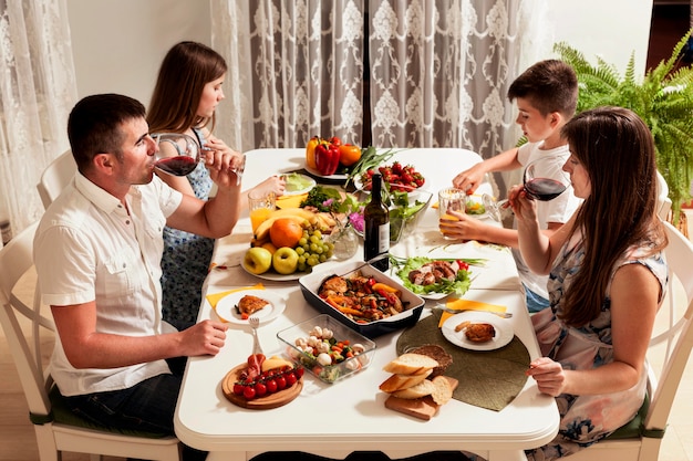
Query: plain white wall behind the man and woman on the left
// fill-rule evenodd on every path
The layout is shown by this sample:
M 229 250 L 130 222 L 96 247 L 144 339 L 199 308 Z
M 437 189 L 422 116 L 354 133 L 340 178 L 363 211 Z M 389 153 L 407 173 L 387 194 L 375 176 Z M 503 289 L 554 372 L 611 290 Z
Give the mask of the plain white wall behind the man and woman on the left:
M 158 66 L 183 40 L 211 44 L 207 0 L 66 0 L 77 96 L 148 104 Z

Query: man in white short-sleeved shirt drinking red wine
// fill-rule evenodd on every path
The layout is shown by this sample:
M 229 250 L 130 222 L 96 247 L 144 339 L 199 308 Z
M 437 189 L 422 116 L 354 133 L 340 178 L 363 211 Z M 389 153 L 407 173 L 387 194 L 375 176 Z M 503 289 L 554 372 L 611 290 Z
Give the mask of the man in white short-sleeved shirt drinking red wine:
M 58 329 L 52 376 L 85 419 L 173 434 L 185 357 L 216 355 L 227 326 L 204 321 L 183 332 L 165 328 L 163 228 L 230 233 L 240 197 L 232 168 L 242 156 L 225 145 L 208 154 L 218 192 L 203 201 L 154 174 L 158 147 L 139 102 L 87 96 L 70 114 L 68 133 L 79 171 L 34 239 L 42 300 Z

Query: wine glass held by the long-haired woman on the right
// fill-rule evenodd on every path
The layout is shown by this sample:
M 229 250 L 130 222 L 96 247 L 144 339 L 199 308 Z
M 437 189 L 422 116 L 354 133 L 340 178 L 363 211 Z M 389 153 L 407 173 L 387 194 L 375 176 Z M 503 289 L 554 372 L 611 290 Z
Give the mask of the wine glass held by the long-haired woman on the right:
M 529 163 L 523 174 L 525 193 L 530 199 L 548 201 L 560 196 L 570 186 L 570 176 L 563 171 L 566 160 L 561 156 L 542 156 Z M 513 209 L 508 199 L 496 201 L 488 193 L 482 196 L 488 214 L 503 221 Z

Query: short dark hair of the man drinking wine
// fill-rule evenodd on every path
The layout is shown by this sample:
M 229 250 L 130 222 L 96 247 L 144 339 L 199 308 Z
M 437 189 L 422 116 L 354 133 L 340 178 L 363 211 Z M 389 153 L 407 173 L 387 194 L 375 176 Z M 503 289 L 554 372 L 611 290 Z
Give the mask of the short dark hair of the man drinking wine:
M 75 104 L 68 119 L 68 138 L 80 171 L 87 170 L 97 154 L 120 156 L 124 137 L 121 125 L 145 115 L 141 102 L 121 94 L 95 94 Z

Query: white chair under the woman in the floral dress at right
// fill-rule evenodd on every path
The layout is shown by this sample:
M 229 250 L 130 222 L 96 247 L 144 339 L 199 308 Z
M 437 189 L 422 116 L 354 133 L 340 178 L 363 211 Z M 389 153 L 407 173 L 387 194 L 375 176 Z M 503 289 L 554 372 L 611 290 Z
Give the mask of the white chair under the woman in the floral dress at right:
M 669 315 L 662 332 L 654 332 L 650 352 L 663 354 L 658 374 L 649 367 L 649 407 L 613 436 L 570 455 L 570 461 L 654 461 L 666 430 L 666 420 L 693 347 L 693 244 L 672 224 L 664 222 L 669 237 L 665 250 L 670 269 L 669 303 L 658 315 Z M 661 348 L 664 347 L 664 350 Z

